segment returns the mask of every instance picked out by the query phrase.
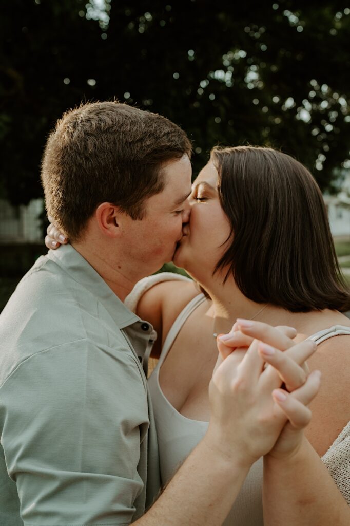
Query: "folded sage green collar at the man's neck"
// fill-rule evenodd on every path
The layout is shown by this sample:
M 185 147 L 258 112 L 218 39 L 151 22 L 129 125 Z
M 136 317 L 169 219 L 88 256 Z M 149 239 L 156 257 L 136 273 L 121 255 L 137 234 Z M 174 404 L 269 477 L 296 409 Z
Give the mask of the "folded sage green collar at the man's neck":
M 47 257 L 67 272 L 79 285 L 88 289 L 104 305 L 119 329 L 140 321 L 140 318 L 123 304 L 106 281 L 74 247 L 62 245 L 58 250 L 49 250 Z

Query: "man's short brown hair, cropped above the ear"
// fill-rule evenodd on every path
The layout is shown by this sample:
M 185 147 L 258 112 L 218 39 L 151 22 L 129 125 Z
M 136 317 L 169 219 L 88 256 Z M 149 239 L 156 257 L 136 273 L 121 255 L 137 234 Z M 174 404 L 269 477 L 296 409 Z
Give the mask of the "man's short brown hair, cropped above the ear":
M 104 202 L 141 219 L 145 199 L 163 189 L 162 166 L 184 154 L 191 155 L 186 133 L 161 115 L 118 102 L 69 110 L 45 147 L 47 213 L 73 241 Z

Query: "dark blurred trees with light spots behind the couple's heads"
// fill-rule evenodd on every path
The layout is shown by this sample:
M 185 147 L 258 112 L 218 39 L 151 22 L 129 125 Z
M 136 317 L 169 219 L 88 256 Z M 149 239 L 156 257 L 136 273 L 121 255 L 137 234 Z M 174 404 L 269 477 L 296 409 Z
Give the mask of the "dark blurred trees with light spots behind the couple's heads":
M 11 0 L 0 38 L 0 310 L 46 252 L 47 134 L 87 100 L 179 124 L 194 176 L 215 144 L 296 157 L 323 191 L 350 282 L 349 1 Z

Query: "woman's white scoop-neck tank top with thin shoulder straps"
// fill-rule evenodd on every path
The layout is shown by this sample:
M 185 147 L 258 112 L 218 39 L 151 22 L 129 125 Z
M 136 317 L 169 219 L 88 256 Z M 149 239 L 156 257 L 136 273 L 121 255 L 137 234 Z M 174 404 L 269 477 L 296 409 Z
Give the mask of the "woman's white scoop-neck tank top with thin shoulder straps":
M 209 422 L 191 420 L 184 417 L 163 395 L 159 385 L 159 370 L 174 339 L 177 337 L 183 323 L 204 300 L 205 296 L 200 294 L 193 298 L 180 312 L 164 341 L 157 367 L 148 379 L 155 413 L 163 484 L 173 476 L 180 464 L 188 457 L 192 449 L 197 446 L 209 425 Z M 337 335 L 350 335 L 350 327 L 336 325 L 319 331 L 308 339 L 314 340 L 318 345 L 318 343 Z M 261 458 L 251 467 L 223 526 L 263 526 L 262 478 L 263 459 Z

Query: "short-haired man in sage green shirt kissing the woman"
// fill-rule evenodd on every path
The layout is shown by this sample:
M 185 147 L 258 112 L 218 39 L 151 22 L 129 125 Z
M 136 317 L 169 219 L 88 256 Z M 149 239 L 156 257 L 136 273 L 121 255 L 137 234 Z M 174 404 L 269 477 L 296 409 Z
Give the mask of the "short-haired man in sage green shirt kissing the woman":
M 113 102 L 50 134 L 46 207 L 71 245 L 36 262 L 0 318 L 1 524 L 219 525 L 231 507 L 250 466 L 228 426 L 227 368 L 205 440 L 145 513 L 160 486 L 142 370 L 155 335 L 122 301 L 172 259 L 190 154 L 168 119 Z

